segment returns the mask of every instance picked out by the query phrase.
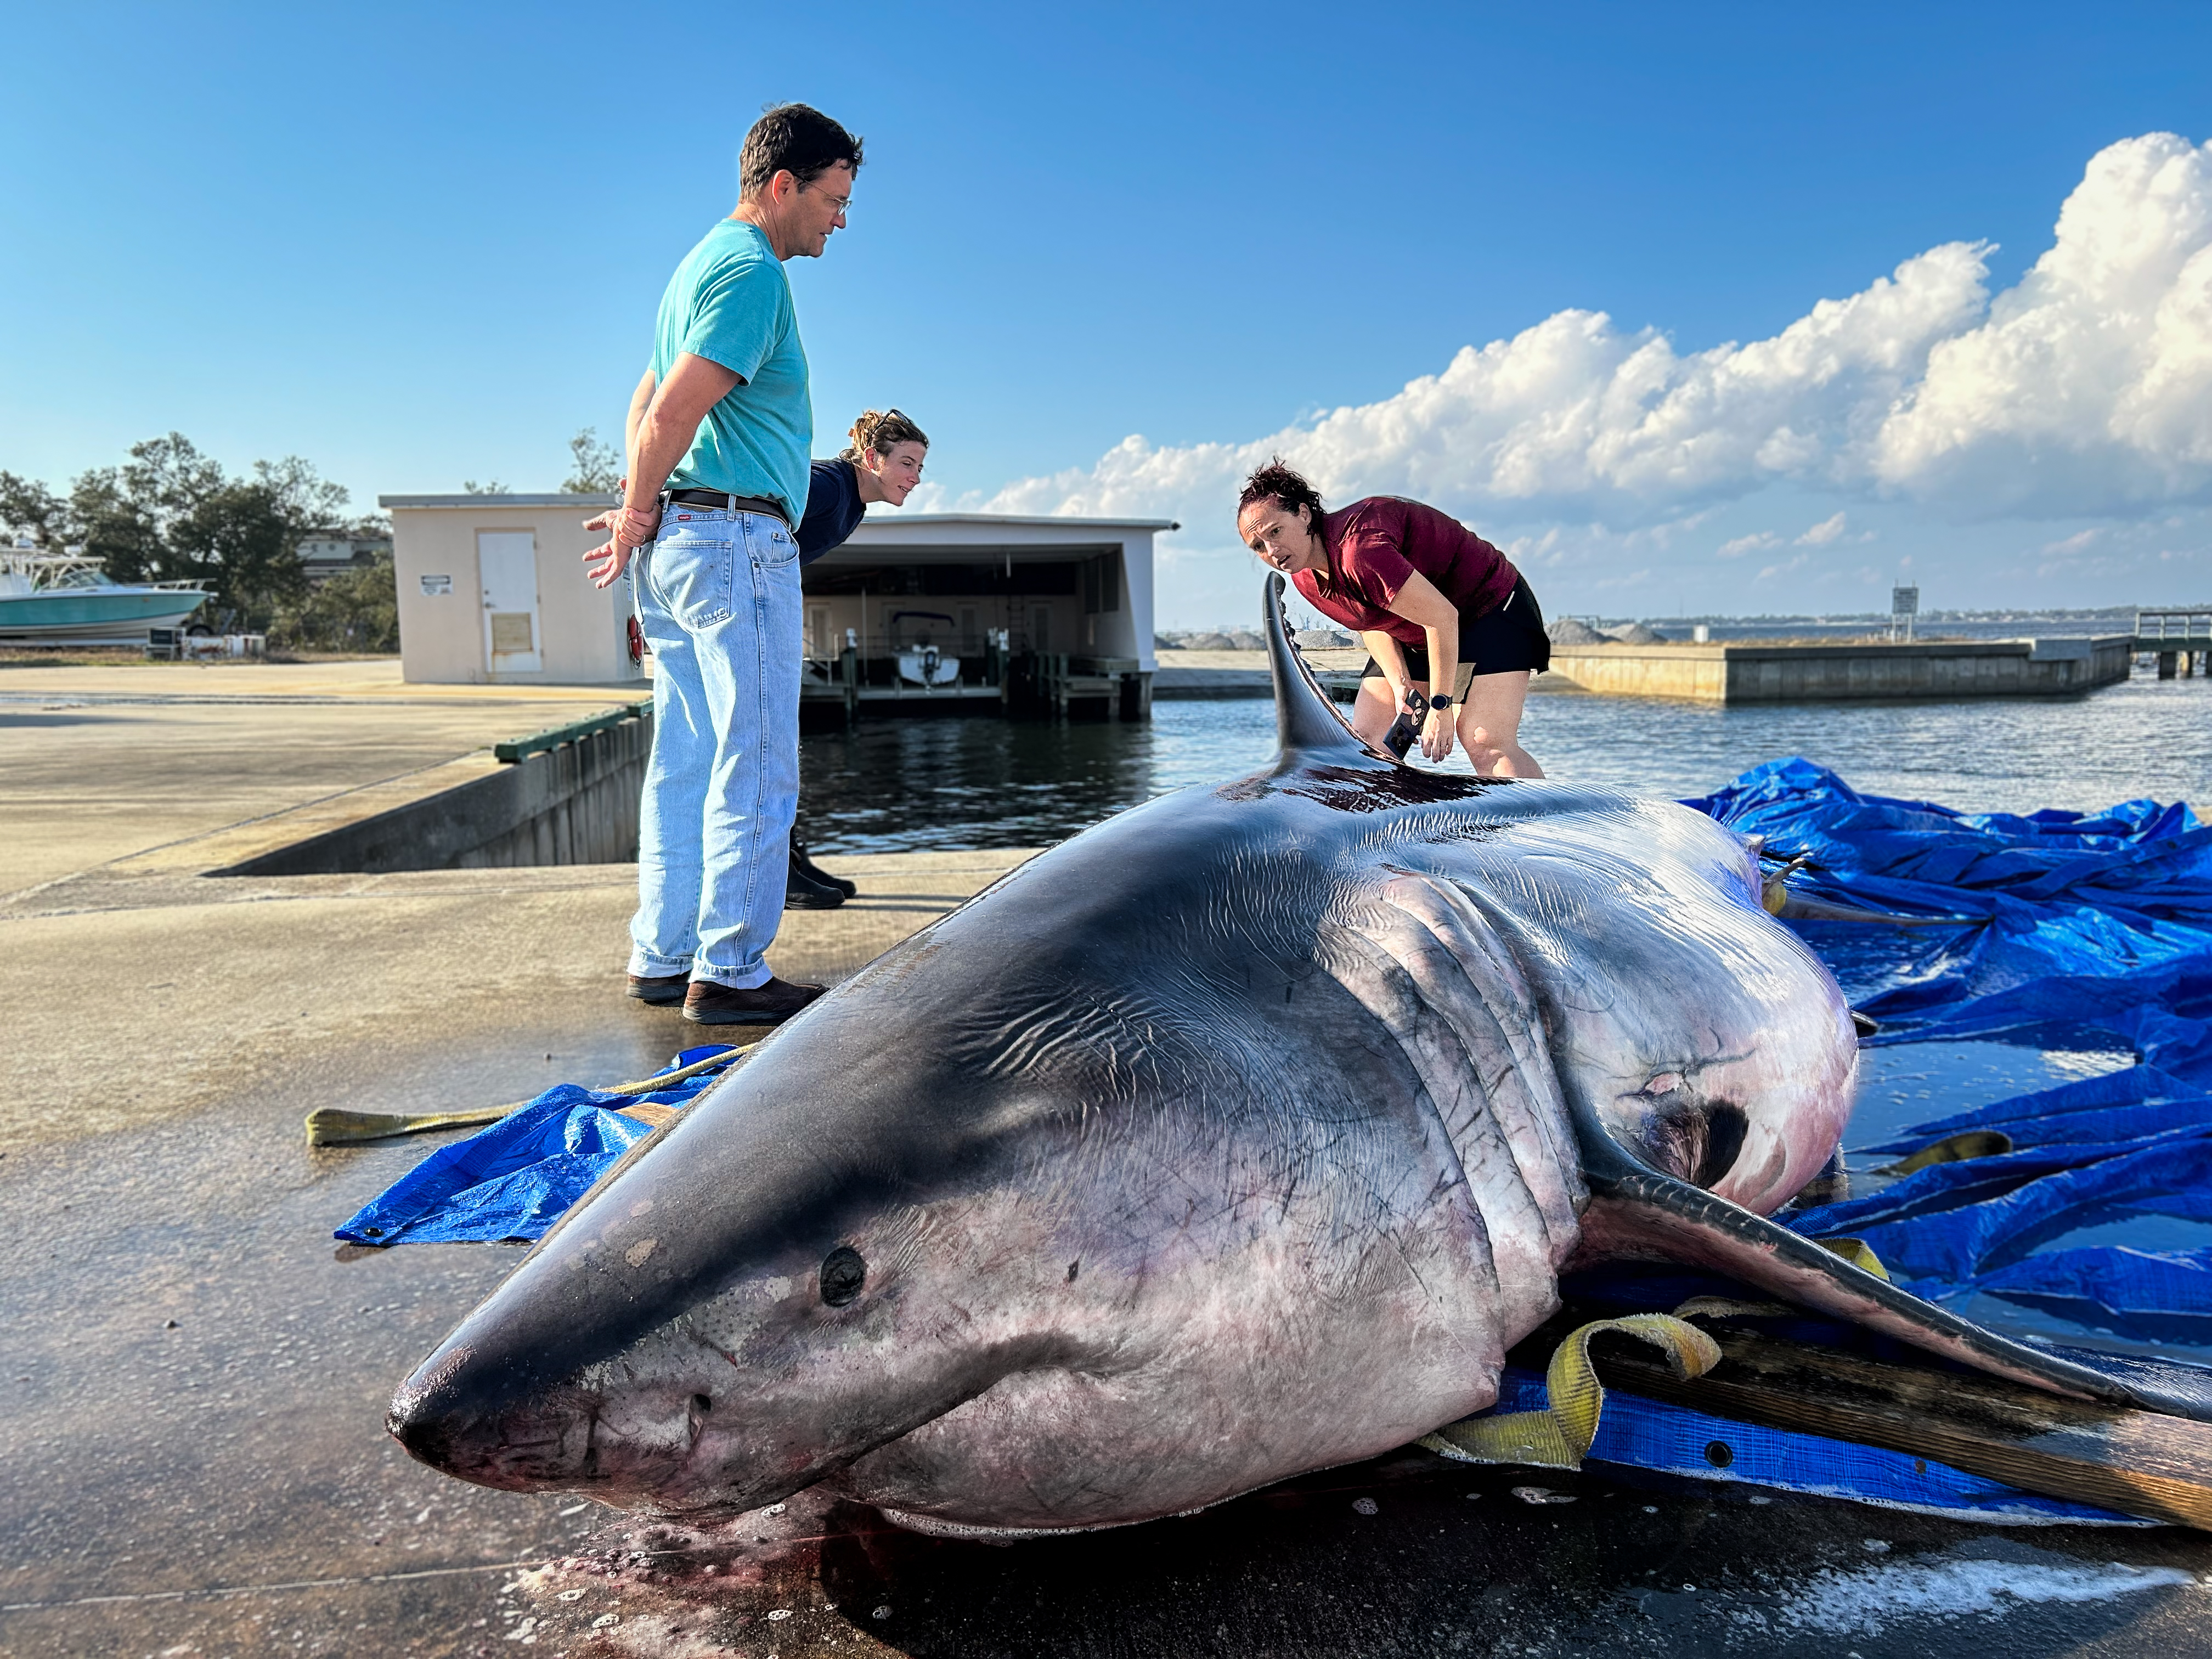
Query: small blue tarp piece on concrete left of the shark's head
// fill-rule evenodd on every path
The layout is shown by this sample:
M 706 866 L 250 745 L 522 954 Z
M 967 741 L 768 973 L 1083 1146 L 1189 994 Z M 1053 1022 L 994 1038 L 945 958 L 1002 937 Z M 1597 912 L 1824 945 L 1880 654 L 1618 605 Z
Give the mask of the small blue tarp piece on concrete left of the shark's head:
M 730 1044 L 686 1048 L 677 1071 Z M 378 1192 L 343 1228 L 347 1243 L 502 1243 L 540 1239 L 593 1181 L 653 1128 L 622 1106 L 686 1106 L 721 1073 L 684 1077 L 650 1095 L 608 1095 L 555 1084 L 491 1128 L 440 1146 Z

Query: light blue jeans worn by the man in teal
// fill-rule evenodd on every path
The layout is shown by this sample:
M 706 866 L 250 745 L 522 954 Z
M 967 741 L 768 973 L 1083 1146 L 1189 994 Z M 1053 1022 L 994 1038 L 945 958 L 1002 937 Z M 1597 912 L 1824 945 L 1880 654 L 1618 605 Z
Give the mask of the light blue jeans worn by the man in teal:
M 781 520 L 668 502 L 637 553 L 653 759 L 630 973 L 768 984 L 799 810 L 799 544 Z

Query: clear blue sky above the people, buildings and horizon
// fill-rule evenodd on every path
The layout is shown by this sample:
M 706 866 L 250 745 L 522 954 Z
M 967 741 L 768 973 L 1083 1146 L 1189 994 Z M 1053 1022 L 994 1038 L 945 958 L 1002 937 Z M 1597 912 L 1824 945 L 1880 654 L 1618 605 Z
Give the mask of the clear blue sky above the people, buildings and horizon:
M 1250 606 L 1208 447 L 1298 449 L 1338 407 L 1493 445 L 1464 467 L 1371 434 L 1298 453 L 1332 498 L 1422 491 L 1511 542 L 1553 611 L 1858 608 L 1900 571 L 1929 604 L 2201 599 L 2212 447 L 2185 420 L 2137 420 L 2115 458 L 1966 411 L 1973 442 L 1938 453 L 1916 429 L 1845 462 L 1792 394 L 1759 420 L 1812 445 L 1794 460 L 1765 445 L 1694 484 L 1650 482 L 1655 460 L 1522 487 L 1495 447 L 1542 425 L 1542 398 L 1506 436 L 1394 400 L 1562 312 L 1610 319 L 1593 349 L 1617 385 L 1641 330 L 1679 367 L 1929 250 L 1995 243 L 1978 274 L 1927 276 L 1949 312 L 1898 323 L 1927 356 L 2002 312 L 2095 157 L 2154 133 L 2185 142 L 2166 186 L 2115 175 L 2084 234 L 2112 246 L 2166 212 L 2161 281 L 2185 288 L 2197 219 L 2168 208 L 2212 137 L 2205 62 L 2194 4 L 22 11 L 0 467 L 62 480 L 179 429 L 232 465 L 307 456 L 358 502 L 553 487 L 571 431 L 619 427 L 748 122 L 803 97 L 869 146 L 852 228 L 792 268 L 818 449 L 898 403 L 936 440 L 936 504 L 1186 518 L 1164 626 Z M 1498 374 L 1537 345 L 1509 358 Z M 1597 385 L 1544 363 L 1559 407 Z M 1686 398 L 1703 374 L 1679 369 Z M 1816 416 L 1840 434 L 1867 398 L 1933 407 L 1918 376 L 1913 358 Z M 2008 400 L 2093 378 L 2059 363 Z M 1124 476 L 1106 462 L 1133 434 L 1166 460 Z M 2073 482 L 2028 498 L 2017 476 Z

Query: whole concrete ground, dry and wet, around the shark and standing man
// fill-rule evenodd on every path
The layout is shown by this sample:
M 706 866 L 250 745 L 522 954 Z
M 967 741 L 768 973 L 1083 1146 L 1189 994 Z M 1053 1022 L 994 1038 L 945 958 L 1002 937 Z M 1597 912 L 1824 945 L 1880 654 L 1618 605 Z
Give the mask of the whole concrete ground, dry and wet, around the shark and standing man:
M 807 1498 L 695 1535 L 409 1462 L 380 1427 L 394 1380 L 518 1252 L 334 1248 L 330 1228 L 438 1137 L 310 1150 L 301 1115 L 611 1082 L 699 1031 L 622 995 L 628 865 L 199 872 L 611 701 L 427 692 L 385 664 L 0 672 L 0 1652 L 1920 1659 L 2212 1641 L 2199 1533 L 2004 1533 L 1595 1467 L 1400 1453 L 998 1548 Z M 792 914 L 774 962 L 849 973 L 1022 856 L 827 858 L 863 898 Z

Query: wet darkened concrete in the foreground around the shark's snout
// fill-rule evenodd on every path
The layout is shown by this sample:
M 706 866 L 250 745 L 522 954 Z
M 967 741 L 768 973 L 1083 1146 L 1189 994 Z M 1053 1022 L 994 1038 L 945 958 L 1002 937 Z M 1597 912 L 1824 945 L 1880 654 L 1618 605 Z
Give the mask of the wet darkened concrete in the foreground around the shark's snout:
M 520 1252 L 336 1248 L 330 1228 L 431 1141 L 310 1150 L 299 1115 L 613 1079 L 697 1035 L 604 980 L 511 1026 L 465 1051 L 356 1037 L 219 1104 L 0 1159 L 0 1652 L 2212 1646 L 2205 1535 L 2008 1531 L 1599 1467 L 1469 1469 L 1413 1451 L 1194 1517 L 1006 1546 L 918 1537 L 805 1495 L 690 1535 L 451 1482 L 385 1438 L 385 1400 Z M 553 1029 L 557 1051 L 542 1046 Z M 128 1071 L 133 1024 L 106 1042 Z M 86 1095 L 102 1086 L 82 1077 Z

